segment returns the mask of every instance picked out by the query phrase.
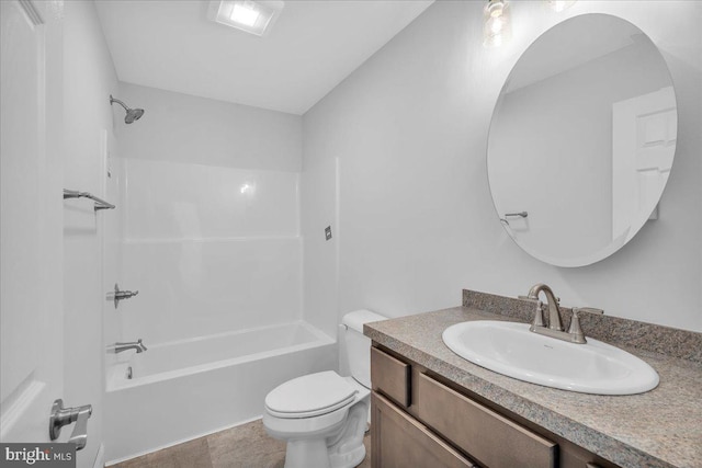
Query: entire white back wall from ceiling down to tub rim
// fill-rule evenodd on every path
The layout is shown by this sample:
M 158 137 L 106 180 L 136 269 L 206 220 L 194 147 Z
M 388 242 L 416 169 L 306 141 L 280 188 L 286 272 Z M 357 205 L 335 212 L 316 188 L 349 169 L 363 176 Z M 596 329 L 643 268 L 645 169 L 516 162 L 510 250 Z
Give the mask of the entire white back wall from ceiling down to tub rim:
M 121 83 L 122 339 L 299 320 L 302 117 Z M 120 117 L 124 112 L 120 109 Z

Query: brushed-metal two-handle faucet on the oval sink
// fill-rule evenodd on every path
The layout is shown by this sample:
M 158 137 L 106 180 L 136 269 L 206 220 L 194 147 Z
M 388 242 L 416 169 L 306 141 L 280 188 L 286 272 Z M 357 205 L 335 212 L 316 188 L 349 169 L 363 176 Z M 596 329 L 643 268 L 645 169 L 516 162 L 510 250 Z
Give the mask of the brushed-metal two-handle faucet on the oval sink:
M 548 307 L 548 328 L 544 324 L 543 318 L 543 304 L 539 300 L 539 293 L 544 293 L 546 296 L 546 306 Z M 534 321 L 532 322 L 529 331 L 534 333 L 544 334 L 546 336 L 555 338 L 563 341 L 569 341 L 571 343 L 585 344 L 585 333 L 580 328 L 580 312 L 587 313 L 604 313 L 601 309 L 595 309 L 592 307 L 574 307 L 573 318 L 570 319 L 570 326 L 568 331 L 563 330 L 563 322 L 561 321 L 561 299 L 553 294 L 553 289 L 543 283 L 535 284 L 529 289 L 526 296 L 520 296 L 521 299 L 526 299 L 536 303 L 536 313 L 534 315 Z

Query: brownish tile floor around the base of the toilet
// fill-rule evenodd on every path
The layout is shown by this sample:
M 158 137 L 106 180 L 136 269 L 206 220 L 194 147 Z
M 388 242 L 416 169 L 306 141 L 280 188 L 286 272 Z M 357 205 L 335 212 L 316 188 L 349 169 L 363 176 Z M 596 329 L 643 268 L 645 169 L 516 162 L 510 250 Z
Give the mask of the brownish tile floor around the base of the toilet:
M 366 454 L 360 467 L 370 468 L 370 433 L 363 444 Z M 283 468 L 284 464 L 285 443 L 270 437 L 258 420 L 110 468 Z

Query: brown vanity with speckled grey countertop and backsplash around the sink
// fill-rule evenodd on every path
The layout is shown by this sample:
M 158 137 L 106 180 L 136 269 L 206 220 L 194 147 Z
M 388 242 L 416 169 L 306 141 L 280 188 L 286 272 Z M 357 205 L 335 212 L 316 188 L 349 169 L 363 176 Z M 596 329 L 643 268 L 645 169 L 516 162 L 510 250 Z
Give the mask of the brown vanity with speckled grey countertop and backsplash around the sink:
M 584 322 L 658 372 L 657 388 L 631 396 L 517 380 L 441 339 L 454 323 L 524 322 L 529 312 L 516 299 L 464 292 L 463 307 L 366 324 L 373 467 L 702 467 L 700 333 L 612 317 Z

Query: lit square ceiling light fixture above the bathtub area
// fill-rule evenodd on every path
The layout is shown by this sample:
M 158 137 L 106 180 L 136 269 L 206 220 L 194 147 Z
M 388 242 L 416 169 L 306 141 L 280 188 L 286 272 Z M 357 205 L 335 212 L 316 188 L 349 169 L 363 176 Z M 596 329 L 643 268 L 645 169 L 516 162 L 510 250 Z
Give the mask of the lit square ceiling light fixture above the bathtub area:
M 213 0 L 207 18 L 227 26 L 262 36 L 283 10 L 280 0 Z

